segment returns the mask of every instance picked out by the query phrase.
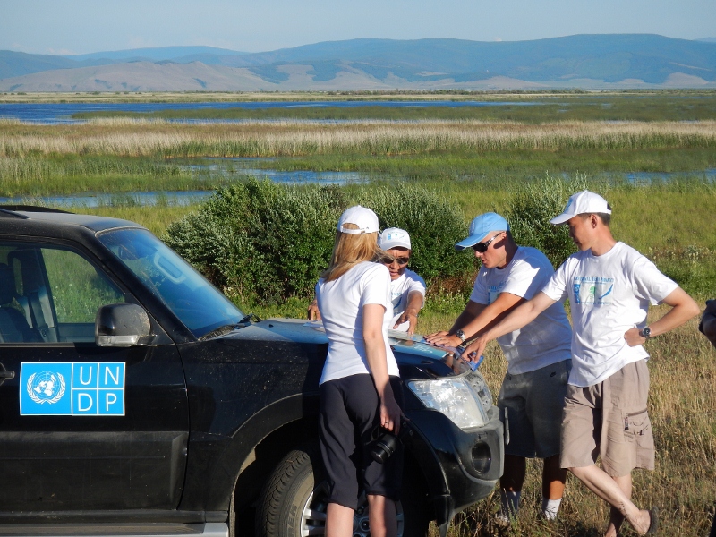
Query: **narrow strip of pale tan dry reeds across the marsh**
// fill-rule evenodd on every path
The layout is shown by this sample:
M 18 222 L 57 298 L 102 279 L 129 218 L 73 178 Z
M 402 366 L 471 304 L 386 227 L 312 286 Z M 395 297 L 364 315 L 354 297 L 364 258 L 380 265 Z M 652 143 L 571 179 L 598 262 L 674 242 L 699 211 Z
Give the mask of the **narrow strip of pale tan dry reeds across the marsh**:
M 123 120 L 127 121 L 127 120 Z M 432 124 L 102 124 L 0 129 L 0 157 L 117 155 L 132 157 L 271 157 L 426 151 L 716 149 L 716 121 L 548 125 Z

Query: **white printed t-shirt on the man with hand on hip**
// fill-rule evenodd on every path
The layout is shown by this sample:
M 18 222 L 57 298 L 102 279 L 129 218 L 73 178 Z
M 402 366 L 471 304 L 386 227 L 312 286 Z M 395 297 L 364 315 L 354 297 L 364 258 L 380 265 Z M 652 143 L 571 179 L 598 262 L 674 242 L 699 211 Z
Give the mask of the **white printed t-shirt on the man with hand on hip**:
M 648 358 L 642 345 L 626 345 L 630 328 L 646 326 L 649 304 L 661 303 L 678 285 L 641 253 L 616 243 L 596 256 L 578 251 L 557 269 L 542 291 L 572 309 L 569 384 L 593 386 L 625 365 Z

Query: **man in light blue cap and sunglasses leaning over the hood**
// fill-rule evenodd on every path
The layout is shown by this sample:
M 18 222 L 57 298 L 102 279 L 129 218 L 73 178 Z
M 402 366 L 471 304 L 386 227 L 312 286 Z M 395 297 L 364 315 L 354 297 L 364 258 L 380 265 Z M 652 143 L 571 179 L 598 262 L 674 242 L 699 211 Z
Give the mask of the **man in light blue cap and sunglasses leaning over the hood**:
M 475 217 L 470 236 L 455 247 L 472 247 L 482 267 L 465 310 L 449 331 L 426 337 L 432 344 L 463 345 L 531 299 L 554 273 L 541 251 L 517 246 L 507 220 L 496 213 Z M 499 338 L 507 374 L 498 406 L 509 433 L 505 473 L 500 479 L 501 524 L 509 524 L 516 516 L 526 458 L 535 456 L 544 459 L 542 515 L 548 520 L 557 516 L 567 478 L 567 471 L 559 466 L 559 431 L 571 369 L 571 337 L 564 308 L 556 303 L 524 328 Z

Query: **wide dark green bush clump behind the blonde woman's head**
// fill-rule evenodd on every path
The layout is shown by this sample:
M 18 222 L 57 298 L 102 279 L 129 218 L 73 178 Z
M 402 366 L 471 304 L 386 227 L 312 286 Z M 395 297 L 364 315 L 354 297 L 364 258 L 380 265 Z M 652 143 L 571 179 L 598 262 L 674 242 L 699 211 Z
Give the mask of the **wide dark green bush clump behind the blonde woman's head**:
M 454 250 L 465 236 L 459 209 L 411 186 L 281 186 L 251 179 L 220 189 L 198 212 L 167 229 L 165 241 L 214 285 L 244 305 L 309 297 L 328 267 L 341 212 L 360 203 L 380 227 L 403 227 L 412 268 L 430 281 L 473 269 Z

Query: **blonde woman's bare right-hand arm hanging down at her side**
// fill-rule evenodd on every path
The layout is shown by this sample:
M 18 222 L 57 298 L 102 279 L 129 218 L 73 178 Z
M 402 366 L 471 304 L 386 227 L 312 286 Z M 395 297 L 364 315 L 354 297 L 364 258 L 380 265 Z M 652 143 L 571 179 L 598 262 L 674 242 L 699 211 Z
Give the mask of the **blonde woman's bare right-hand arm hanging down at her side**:
M 386 342 L 383 339 L 385 312 L 381 304 L 363 306 L 363 341 L 368 367 L 380 397 L 380 426 L 397 434 L 400 430 L 400 406 L 396 403 L 388 377 Z

